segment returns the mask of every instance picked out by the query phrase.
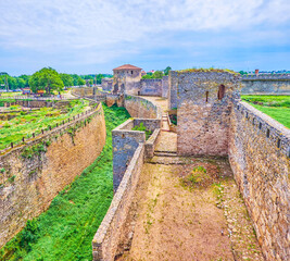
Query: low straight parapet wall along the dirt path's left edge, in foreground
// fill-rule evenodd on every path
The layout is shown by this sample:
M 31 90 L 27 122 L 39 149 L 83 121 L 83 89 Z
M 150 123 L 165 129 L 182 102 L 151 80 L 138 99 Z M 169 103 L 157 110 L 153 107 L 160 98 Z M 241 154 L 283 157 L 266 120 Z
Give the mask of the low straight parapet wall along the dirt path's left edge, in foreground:
M 131 231 L 125 225 L 143 166 L 143 158 L 144 145 L 140 144 L 136 149 L 118 189 L 114 195 L 112 203 L 92 239 L 92 256 L 96 261 L 115 260 L 119 245 L 123 244 L 123 238 L 128 239 L 131 236 Z

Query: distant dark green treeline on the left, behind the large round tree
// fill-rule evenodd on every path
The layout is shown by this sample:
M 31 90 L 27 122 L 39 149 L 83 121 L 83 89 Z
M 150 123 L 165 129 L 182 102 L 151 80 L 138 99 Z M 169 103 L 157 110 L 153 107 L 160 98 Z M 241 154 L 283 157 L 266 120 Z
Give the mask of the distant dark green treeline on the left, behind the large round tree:
M 53 70 L 53 69 L 49 67 L 49 70 Z M 39 74 L 40 71 L 36 72 L 35 74 Z M 56 72 L 55 70 L 53 71 Z M 81 86 L 81 85 L 86 85 L 87 83 L 89 85 L 101 84 L 102 78 L 112 77 L 113 75 L 110 75 L 110 74 L 78 75 L 78 74 L 65 74 L 65 73 L 59 74 L 56 72 L 56 77 L 58 76 L 62 80 L 64 87 L 70 87 L 70 86 Z M 15 90 L 15 89 L 22 89 L 25 87 L 31 87 L 29 84 L 29 80 L 31 79 L 31 77 L 33 75 L 26 75 L 26 74 L 23 74 L 21 76 L 11 76 L 7 73 L 0 73 L 0 89 L 8 88 L 9 90 Z

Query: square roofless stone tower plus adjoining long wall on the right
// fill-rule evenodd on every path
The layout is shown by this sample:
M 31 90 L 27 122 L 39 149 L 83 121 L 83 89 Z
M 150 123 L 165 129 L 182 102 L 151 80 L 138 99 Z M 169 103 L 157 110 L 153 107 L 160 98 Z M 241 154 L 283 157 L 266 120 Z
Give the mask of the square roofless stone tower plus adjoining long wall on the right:
M 266 260 L 289 260 L 290 130 L 240 101 L 235 74 L 172 72 L 169 87 L 178 153 L 228 156 Z

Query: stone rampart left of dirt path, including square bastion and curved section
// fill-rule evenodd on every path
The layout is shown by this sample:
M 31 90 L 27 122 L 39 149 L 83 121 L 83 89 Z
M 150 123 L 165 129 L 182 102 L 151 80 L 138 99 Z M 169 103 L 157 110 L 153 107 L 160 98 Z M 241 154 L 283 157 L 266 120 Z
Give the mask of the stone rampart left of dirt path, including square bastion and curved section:
M 153 157 L 162 123 L 161 109 L 149 100 L 125 96 L 124 104 L 131 116 L 142 119 L 128 120 L 112 132 L 114 190 L 116 192 L 93 237 L 93 260 L 113 261 L 129 245 L 134 234 L 134 224 L 130 226 L 125 226 L 125 224 L 130 223 L 128 220 L 134 212 L 133 198 L 143 161 L 146 158 Z M 144 132 L 133 130 L 133 127 L 140 123 L 153 132 L 148 140 L 146 140 Z

